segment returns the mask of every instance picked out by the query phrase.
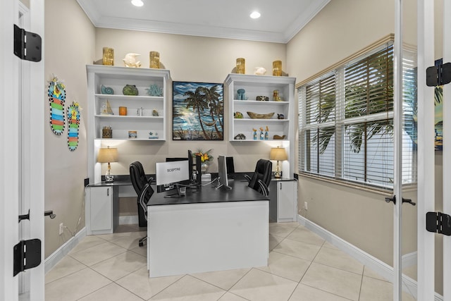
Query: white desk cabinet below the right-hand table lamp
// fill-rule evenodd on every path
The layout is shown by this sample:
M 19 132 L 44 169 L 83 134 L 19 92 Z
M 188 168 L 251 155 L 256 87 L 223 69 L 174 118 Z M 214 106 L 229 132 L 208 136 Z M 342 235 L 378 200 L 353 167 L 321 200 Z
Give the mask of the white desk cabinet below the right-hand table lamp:
M 297 180 L 273 179 L 269 185 L 269 192 L 271 221 L 278 223 L 297 221 Z

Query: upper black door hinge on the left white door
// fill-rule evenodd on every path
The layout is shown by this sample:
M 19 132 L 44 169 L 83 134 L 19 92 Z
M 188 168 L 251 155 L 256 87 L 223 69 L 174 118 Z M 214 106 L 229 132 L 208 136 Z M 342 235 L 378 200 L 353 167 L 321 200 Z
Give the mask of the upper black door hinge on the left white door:
M 41 37 L 34 32 L 27 32 L 14 24 L 14 54 L 26 61 L 41 61 Z

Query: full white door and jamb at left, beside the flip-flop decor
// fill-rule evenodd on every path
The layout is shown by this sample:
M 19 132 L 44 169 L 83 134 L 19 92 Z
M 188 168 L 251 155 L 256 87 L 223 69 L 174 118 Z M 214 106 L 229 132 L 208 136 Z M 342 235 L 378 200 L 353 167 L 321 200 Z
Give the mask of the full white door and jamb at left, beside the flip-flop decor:
M 20 13 L 16 0 L 0 1 L 0 300 L 44 300 L 44 60 L 31 63 L 13 54 Z M 43 41 L 44 1 L 30 0 L 29 15 L 24 29 Z M 28 209 L 30 220 L 19 225 L 18 216 Z M 42 242 L 42 263 L 19 281 L 13 247 L 32 238 Z

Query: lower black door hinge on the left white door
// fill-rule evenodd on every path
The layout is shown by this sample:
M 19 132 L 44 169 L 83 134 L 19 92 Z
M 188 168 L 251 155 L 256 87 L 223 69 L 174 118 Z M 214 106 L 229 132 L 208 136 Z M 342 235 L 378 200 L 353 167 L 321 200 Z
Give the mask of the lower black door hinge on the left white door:
M 20 240 L 14 246 L 13 276 L 41 264 L 41 240 Z

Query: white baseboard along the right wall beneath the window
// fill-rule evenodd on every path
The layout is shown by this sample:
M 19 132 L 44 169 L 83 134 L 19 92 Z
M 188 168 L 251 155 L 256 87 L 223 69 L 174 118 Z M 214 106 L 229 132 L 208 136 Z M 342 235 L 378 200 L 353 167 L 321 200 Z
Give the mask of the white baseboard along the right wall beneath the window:
M 337 235 L 330 233 L 316 223 L 309 221 L 304 216 L 300 216 L 298 214 L 297 221 L 302 226 L 309 229 L 311 232 L 318 234 L 319 236 L 321 236 L 321 238 L 323 238 L 327 242 L 330 242 L 330 244 L 338 247 L 343 252 L 346 252 L 354 259 L 358 260 L 365 266 L 368 266 L 370 269 L 383 276 L 383 278 L 393 283 L 394 271 L 392 266 L 385 264 L 385 262 L 382 262 L 376 257 L 373 257 L 370 254 L 364 252 L 363 250 L 360 250 L 358 247 L 351 245 L 349 242 L 342 240 L 342 238 L 339 238 Z M 402 263 L 404 264 L 404 262 L 406 266 L 412 266 L 413 264 L 416 264 L 416 252 L 404 255 L 404 257 L 402 258 Z M 417 287 L 418 284 L 414 279 L 409 278 L 405 275 L 402 276 L 402 290 L 412 294 L 415 299 L 417 295 Z M 443 296 L 435 293 L 434 301 L 443 301 Z

